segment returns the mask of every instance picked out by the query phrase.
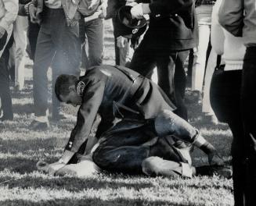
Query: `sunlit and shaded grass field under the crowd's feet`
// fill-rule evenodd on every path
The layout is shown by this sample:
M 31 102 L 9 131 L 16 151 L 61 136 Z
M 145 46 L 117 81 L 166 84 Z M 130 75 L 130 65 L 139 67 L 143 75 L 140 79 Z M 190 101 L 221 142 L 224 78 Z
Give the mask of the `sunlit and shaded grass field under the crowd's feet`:
M 114 64 L 110 22 L 106 23 L 106 64 Z M 187 91 L 189 95 L 189 91 Z M 51 121 L 51 128 L 35 132 L 28 128 L 33 112 L 32 69 L 27 60 L 26 85 L 13 92 L 14 118 L 0 127 L 0 205 L 233 205 L 232 179 L 218 176 L 193 179 L 149 178 L 99 174 L 91 178 L 49 176 L 35 168 L 38 160 L 54 162 L 63 152 L 75 123 L 75 111 L 66 107 L 70 119 Z M 232 141 L 228 126 L 213 126 L 200 120 L 200 105 L 188 105 L 193 126 L 230 159 Z M 195 149 L 193 163 L 205 164 Z

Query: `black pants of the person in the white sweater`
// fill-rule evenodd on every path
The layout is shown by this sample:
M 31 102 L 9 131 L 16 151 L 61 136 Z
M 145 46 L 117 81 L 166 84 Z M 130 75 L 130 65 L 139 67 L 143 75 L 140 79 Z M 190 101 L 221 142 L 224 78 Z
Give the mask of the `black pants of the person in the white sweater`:
M 245 140 L 243 136 L 243 123 L 240 112 L 240 90 L 242 70 L 215 71 L 211 80 L 211 107 L 218 120 L 228 123 L 233 133 L 231 154 L 233 158 L 233 188 L 235 205 L 244 205 L 245 196 Z

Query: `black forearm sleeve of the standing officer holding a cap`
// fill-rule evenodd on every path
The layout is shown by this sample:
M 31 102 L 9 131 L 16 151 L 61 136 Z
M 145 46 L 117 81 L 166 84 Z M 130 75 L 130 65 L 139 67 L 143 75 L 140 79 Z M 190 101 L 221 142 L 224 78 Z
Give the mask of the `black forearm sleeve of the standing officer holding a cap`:
M 193 5 L 193 0 L 154 0 L 150 3 L 150 11 L 153 15 L 167 15 L 178 12 Z

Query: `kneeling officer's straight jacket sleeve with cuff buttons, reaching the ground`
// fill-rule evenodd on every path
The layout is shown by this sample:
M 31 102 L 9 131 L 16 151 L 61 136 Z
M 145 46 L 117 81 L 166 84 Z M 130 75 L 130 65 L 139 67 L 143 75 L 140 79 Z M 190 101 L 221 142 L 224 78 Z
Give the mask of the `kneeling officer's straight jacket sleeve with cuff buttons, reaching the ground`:
M 100 80 L 96 83 L 88 83 L 85 87 L 84 99 L 78 110 L 77 124 L 71 132 L 70 139 L 62 156 L 64 163 L 67 164 L 74 153 L 81 147 L 81 144 L 88 139 L 99 106 L 103 101 L 104 87 L 105 83 Z

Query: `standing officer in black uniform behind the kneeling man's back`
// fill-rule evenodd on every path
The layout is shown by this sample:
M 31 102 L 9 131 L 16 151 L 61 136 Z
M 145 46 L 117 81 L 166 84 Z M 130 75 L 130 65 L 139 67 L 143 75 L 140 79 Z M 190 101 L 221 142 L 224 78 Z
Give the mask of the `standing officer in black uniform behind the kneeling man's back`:
M 131 9 L 136 19 L 149 14 L 150 24 L 139 48 L 135 50 L 130 68 L 142 76 L 148 76 L 157 66 L 158 85 L 177 106 L 177 114 L 187 120 L 184 62 L 189 49 L 196 47 L 198 41 L 194 2 L 146 2 L 134 5 Z

